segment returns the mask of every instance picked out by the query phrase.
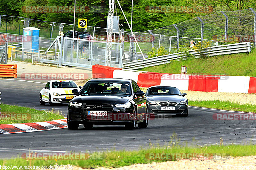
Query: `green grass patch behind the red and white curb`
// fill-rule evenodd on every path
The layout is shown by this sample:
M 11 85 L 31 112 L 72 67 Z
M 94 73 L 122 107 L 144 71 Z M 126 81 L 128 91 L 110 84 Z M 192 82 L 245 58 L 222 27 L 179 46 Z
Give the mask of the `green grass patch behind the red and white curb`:
M 28 122 L 43 122 L 63 119 L 61 113 L 50 111 L 41 111 L 29 107 L 20 107 L 2 104 L 0 115 L 0 124 L 11 123 L 28 123 Z

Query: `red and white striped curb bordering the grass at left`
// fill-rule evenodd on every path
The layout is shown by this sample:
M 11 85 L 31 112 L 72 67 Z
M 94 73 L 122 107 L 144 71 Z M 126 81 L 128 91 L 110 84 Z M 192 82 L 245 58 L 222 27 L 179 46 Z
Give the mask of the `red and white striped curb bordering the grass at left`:
M 67 128 L 67 120 L 60 119 L 35 123 L 12 123 L 0 125 L 0 134 L 35 132 L 40 130 L 52 130 Z

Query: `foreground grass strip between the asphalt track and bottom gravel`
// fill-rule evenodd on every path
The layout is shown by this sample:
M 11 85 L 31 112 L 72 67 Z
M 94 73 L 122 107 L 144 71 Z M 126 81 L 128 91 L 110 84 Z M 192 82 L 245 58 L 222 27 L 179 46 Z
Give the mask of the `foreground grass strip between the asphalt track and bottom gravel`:
M 221 143 L 221 140 L 220 140 Z M 210 153 L 212 155 L 222 154 L 232 157 L 237 156 L 251 156 L 256 155 L 256 145 L 246 144 L 246 145 L 208 145 L 208 146 L 180 146 L 178 144 L 169 144 L 168 146 L 159 147 L 153 146 L 149 143 L 150 147 L 147 149 L 139 149 L 133 151 L 116 151 L 112 150 L 109 152 L 101 152 L 103 159 L 68 159 L 68 160 L 51 160 L 51 159 L 44 159 L 44 160 L 31 160 L 31 159 L 22 159 L 22 158 L 15 158 L 15 159 L 1 159 L 0 165 L 4 166 L 54 166 L 54 165 L 73 165 L 79 166 L 82 168 L 97 168 L 98 166 L 104 167 L 121 167 L 121 166 L 129 166 L 132 164 L 138 163 L 152 163 L 152 162 L 164 162 L 170 161 L 175 159 L 148 159 L 149 157 L 146 156 L 149 153 Z M 99 152 L 98 152 L 99 153 Z M 97 154 L 95 152 L 94 154 Z

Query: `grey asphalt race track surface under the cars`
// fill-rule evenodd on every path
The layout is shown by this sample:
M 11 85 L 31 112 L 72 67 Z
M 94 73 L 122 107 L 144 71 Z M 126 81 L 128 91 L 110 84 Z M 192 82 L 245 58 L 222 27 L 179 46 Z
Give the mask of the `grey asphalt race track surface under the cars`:
M 5 104 L 50 109 L 52 107 L 39 104 L 38 95 L 43 87 L 44 84 L 40 83 L 0 79 L 1 98 Z M 62 111 L 63 115 L 67 114 L 67 105 L 57 105 L 53 108 Z M 189 107 L 188 117 L 160 116 L 149 121 L 148 128 L 145 129 L 126 130 L 123 125 L 94 125 L 92 129 L 85 129 L 80 125 L 78 130 L 64 128 L 0 134 L 0 159 L 17 157 L 29 151 L 94 152 L 113 148 L 133 150 L 141 146 L 148 147 L 149 139 L 152 144 L 168 144 L 174 132 L 181 144 L 219 144 L 221 137 L 224 144 L 255 144 L 255 121 L 214 120 L 214 113 L 232 112 Z

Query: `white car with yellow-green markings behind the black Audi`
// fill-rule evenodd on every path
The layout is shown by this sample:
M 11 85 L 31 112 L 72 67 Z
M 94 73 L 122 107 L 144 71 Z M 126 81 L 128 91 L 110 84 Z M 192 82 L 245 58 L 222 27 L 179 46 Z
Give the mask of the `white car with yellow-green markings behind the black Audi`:
M 40 91 L 40 105 L 49 103 L 53 106 L 56 103 L 68 103 L 76 94 L 72 93 L 73 89 L 80 91 L 81 86 L 72 80 L 51 80 L 48 81 L 45 87 Z

